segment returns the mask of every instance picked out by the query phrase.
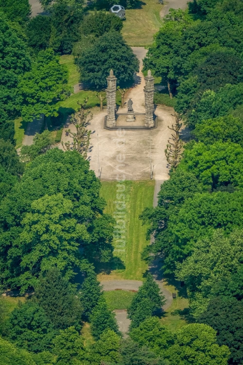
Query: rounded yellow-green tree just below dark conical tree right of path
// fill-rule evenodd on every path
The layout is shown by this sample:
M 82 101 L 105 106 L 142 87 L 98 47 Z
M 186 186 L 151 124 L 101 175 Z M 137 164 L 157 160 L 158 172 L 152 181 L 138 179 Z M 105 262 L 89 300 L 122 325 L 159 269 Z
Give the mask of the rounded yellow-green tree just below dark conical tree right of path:
M 162 326 L 158 317 L 150 317 L 133 328 L 129 333 L 131 339 L 139 346 L 147 346 L 153 353 L 162 356 L 169 346 L 174 343 L 173 334 Z

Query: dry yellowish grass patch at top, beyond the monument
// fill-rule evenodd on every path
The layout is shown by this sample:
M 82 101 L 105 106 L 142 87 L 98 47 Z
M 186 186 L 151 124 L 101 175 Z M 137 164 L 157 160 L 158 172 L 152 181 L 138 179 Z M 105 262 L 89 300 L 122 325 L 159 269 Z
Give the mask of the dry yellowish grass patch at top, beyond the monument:
M 136 9 L 126 9 L 126 20 L 121 34 L 129 46 L 144 47 L 153 42 L 153 35 L 161 26 L 160 11 L 163 5 L 157 0 L 139 1 Z

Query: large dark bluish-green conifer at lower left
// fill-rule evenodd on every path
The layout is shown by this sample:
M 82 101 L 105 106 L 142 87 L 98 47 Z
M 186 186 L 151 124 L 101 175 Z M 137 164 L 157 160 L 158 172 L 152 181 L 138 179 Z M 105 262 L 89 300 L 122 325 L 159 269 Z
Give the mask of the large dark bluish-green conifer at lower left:
M 43 308 L 54 328 L 65 329 L 74 326 L 77 330 L 80 329 L 80 300 L 56 267 L 39 278 L 34 299 Z

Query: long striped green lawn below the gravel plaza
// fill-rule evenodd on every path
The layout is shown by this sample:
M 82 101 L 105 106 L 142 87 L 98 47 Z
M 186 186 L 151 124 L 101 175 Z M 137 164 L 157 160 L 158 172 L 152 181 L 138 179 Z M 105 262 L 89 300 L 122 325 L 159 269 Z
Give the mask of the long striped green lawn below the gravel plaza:
M 111 270 L 109 275 L 99 275 L 102 280 L 121 278 L 128 280 L 143 280 L 143 273 L 147 270 L 147 263 L 141 259 L 141 253 L 149 244 L 146 240 L 146 226 L 142 226 L 139 215 L 145 207 L 153 206 L 154 181 L 124 181 L 126 187 L 125 201 L 125 247 L 121 242 L 113 239 L 114 260 L 105 268 Z M 117 194 L 116 181 L 104 181 L 101 187 L 101 196 L 107 201 L 105 212 L 113 214 L 116 210 L 114 201 Z

